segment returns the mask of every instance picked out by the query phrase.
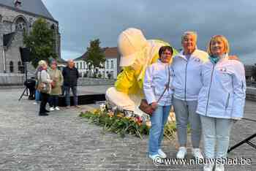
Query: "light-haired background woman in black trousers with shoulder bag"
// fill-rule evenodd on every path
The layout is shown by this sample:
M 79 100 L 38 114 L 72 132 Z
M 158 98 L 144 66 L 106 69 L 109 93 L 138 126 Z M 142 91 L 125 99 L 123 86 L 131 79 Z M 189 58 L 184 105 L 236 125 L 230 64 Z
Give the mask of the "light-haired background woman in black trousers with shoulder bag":
M 48 115 L 47 113 L 49 112 L 48 110 L 45 109 L 45 105 L 48 102 L 48 96 L 51 91 L 51 86 L 50 83 L 53 82 L 53 80 L 50 80 L 50 75 L 47 72 L 48 64 L 46 61 L 39 61 L 39 64 L 42 64 L 42 71 L 37 73 L 37 78 L 40 83 L 44 83 L 45 87 L 47 88 L 47 91 L 40 91 L 40 94 L 42 96 L 42 101 L 40 103 L 40 109 L 39 109 L 39 115 Z

